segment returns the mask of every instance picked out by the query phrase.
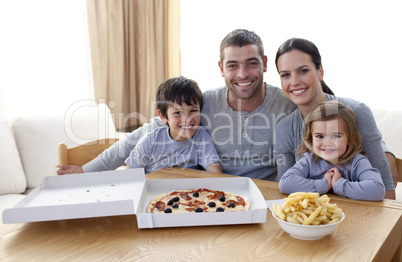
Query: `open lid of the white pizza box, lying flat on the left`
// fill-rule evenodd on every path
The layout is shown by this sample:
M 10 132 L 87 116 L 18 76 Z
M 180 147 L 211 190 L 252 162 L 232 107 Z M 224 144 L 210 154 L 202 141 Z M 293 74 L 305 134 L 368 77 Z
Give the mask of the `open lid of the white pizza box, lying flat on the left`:
M 48 176 L 3 211 L 3 223 L 135 214 L 144 183 L 143 169 Z

